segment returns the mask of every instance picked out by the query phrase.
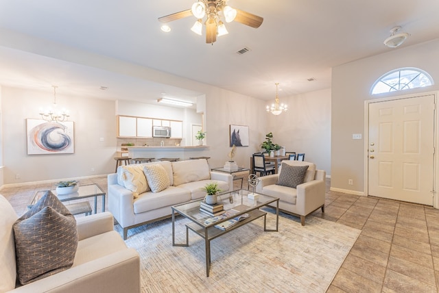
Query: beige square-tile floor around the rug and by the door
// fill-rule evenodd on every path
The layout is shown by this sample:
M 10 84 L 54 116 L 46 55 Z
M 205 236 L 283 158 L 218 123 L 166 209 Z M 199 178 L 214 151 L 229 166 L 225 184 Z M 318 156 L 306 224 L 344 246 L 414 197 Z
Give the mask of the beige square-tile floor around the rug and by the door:
M 80 183 L 107 190 L 106 177 Z M 37 190 L 53 188 L 54 183 L 26 184 L 0 193 L 21 215 Z M 100 211 L 102 203 L 97 203 Z M 319 209 L 313 216 L 361 229 L 327 292 L 438 292 L 438 209 L 327 191 L 325 212 Z

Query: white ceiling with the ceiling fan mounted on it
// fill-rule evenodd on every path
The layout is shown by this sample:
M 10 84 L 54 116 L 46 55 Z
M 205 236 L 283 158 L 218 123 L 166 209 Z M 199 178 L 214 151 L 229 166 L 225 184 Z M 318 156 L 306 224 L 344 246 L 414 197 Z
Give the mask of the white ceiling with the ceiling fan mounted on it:
M 261 27 L 228 23 L 229 34 L 213 45 L 190 30 L 193 16 L 161 31 L 158 17 L 187 10 L 193 1 L 1 0 L 0 84 L 50 92 L 55 84 L 61 93 L 145 103 L 163 92 L 191 101 L 200 94 L 64 61 L 62 52 L 49 50 L 60 44 L 271 100 L 276 82 L 280 98 L 330 88 L 331 67 L 395 50 L 383 40 L 396 25 L 411 34 L 399 48 L 439 36 L 438 0 L 230 0 L 262 16 Z M 17 41 L 16 34 L 26 37 Z M 11 49 L 17 46 L 29 50 Z M 237 54 L 244 47 L 251 51 Z

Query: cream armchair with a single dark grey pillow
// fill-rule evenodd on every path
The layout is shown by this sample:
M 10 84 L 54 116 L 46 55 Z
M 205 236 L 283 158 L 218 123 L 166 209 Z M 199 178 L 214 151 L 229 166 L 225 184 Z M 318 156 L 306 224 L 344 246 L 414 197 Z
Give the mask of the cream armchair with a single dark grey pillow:
M 316 165 L 310 162 L 284 160 L 282 164 L 289 166 L 308 166 L 305 179 L 302 184 L 291 188 L 276 185 L 282 168 L 278 174 L 260 177 L 261 181 L 257 185 L 257 192 L 275 196 L 279 198 L 279 209 L 281 211 L 300 216 L 302 226 L 305 225 L 305 217 L 317 209 L 321 208 L 324 212 L 324 199 L 326 190 L 326 172 L 316 170 Z

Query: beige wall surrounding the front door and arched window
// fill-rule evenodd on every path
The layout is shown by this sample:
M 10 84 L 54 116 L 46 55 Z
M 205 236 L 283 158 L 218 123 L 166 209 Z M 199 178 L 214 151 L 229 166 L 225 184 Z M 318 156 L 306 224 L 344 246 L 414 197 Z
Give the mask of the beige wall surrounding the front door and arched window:
M 381 75 L 396 68 L 416 67 L 426 71 L 436 85 L 372 96 L 370 88 Z M 331 126 L 331 188 L 364 192 L 364 101 L 439 89 L 439 40 L 389 49 L 388 53 L 333 68 Z M 353 140 L 353 133 L 363 133 Z M 353 186 L 348 185 L 353 179 Z

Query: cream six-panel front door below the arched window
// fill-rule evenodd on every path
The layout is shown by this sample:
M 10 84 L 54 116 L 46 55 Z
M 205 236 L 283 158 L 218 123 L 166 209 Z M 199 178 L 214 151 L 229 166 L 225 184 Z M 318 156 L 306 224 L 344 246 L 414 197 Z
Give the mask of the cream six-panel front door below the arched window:
M 433 205 L 434 95 L 368 105 L 368 194 Z

